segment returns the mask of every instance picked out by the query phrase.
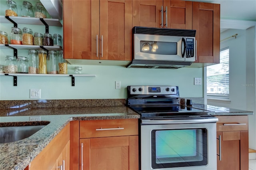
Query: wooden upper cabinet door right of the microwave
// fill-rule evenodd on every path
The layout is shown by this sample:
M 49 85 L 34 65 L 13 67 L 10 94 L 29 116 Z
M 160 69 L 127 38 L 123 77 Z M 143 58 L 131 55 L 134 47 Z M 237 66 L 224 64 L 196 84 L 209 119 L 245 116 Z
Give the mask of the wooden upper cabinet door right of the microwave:
M 193 2 L 198 63 L 220 63 L 220 4 Z

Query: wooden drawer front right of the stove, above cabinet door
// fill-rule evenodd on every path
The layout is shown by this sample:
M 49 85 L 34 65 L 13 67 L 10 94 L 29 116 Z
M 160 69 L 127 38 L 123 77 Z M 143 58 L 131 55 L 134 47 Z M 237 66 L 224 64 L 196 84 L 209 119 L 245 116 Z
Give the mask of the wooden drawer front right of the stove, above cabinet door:
M 248 116 L 216 116 L 217 132 L 248 130 Z

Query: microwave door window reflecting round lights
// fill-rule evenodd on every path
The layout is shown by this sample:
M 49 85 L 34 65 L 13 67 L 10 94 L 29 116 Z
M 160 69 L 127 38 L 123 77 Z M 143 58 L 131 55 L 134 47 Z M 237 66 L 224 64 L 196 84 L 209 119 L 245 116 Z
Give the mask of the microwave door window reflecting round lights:
M 177 43 L 140 41 L 140 52 L 162 55 L 177 55 Z

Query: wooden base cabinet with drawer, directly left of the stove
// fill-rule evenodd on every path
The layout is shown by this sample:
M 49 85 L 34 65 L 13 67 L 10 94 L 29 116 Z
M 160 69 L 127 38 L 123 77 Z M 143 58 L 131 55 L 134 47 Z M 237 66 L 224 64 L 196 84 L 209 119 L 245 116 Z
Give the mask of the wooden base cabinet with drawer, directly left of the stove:
M 138 119 L 75 122 L 70 169 L 138 170 Z

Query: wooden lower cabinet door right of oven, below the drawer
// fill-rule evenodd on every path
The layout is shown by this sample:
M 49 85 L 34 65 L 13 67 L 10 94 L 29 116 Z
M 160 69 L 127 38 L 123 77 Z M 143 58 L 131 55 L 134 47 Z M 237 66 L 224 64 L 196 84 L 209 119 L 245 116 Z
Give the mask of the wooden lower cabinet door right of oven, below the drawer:
M 217 132 L 219 136 L 217 170 L 248 170 L 248 131 Z

